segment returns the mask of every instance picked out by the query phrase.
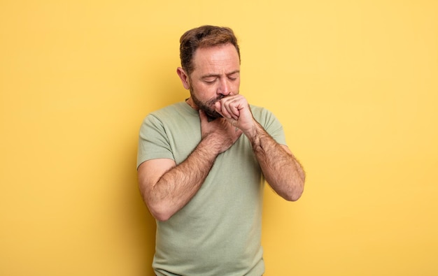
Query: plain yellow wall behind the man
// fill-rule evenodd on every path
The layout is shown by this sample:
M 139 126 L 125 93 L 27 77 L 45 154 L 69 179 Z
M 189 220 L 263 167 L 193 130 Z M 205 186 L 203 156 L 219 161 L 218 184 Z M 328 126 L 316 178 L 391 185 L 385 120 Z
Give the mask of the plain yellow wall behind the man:
M 0 275 L 151 275 L 143 117 L 178 39 L 232 27 L 241 94 L 308 175 L 267 188 L 265 275 L 438 275 L 437 1 L 0 1 Z

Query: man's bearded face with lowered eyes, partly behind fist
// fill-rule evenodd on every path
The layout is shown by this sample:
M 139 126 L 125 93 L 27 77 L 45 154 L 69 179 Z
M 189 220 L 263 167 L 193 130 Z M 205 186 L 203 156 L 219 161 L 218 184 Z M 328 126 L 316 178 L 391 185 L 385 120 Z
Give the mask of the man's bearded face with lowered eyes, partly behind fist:
M 239 94 L 240 62 L 232 44 L 200 48 L 193 55 L 194 71 L 189 89 L 192 103 L 210 117 L 222 117 L 214 104 L 228 95 Z

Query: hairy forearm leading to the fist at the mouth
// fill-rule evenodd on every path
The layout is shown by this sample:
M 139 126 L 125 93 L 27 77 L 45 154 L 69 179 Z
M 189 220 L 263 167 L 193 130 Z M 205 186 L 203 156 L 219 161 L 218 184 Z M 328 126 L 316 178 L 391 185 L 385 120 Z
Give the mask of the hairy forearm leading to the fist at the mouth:
M 276 143 L 257 122 L 248 138 L 269 185 L 286 200 L 296 201 L 304 190 L 305 179 L 304 170 L 297 159 Z

